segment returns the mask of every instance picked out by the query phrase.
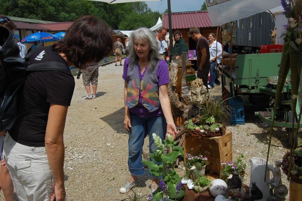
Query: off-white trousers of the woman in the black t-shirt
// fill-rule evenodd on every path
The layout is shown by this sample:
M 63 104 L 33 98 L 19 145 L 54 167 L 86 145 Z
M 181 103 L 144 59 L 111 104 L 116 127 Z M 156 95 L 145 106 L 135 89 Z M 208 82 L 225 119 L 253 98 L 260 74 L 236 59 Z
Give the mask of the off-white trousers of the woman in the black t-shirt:
M 7 133 L 3 156 L 19 200 L 50 200 L 55 181 L 45 147 L 22 145 Z

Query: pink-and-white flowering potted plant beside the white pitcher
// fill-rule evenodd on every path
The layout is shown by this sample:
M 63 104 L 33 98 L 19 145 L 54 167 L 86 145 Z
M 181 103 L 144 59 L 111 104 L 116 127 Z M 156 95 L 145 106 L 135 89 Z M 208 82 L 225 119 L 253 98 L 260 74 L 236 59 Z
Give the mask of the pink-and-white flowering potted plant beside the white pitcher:
M 226 183 L 229 183 L 230 175 L 233 175 L 233 172 L 237 170 L 239 172 L 239 176 L 241 181 L 243 182 L 246 163 L 243 162 L 244 155 L 240 153 L 239 157 L 236 160 L 230 160 L 228 163 L 225 161 L 221 163 L 223 169 L 220 174 L 220 178 L 223 179 Z

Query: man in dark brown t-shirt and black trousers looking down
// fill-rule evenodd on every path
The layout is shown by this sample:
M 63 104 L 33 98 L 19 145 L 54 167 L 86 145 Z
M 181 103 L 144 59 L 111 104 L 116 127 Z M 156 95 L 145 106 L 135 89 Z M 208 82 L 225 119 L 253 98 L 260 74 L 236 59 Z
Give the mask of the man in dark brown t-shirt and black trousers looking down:
M 191 27 L 188 32 L 189 37 L 192 37 L 197 42 L 197 77 L 202 79 L 204 86 L 207 87 L 208 74 L 210 71 L 210 48 L 206 38 L 204 38 L 197 27 Z

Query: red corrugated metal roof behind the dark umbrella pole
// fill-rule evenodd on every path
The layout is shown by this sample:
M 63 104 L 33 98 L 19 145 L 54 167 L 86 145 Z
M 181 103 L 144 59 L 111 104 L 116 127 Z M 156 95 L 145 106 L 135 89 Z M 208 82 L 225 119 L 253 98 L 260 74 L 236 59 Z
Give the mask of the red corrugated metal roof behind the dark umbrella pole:
M 211 19 L 207 11 L 175 12 L 171 13 L 172 29 L 191 27 L 211 27 Z M 164 15 L 164 27 L 169 28 L 168 13 Z

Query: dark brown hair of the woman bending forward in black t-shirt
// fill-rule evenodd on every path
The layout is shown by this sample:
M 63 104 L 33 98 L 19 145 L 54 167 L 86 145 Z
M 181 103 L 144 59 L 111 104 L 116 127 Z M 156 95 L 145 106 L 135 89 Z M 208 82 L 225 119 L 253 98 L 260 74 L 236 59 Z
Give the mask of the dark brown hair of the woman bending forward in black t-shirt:
M 58 53 L 64 53 L 76 68 L 85 69 L 86 63 L 100 61 L 113 46 L 108 27 L 93 15 L 78 18 L 66 31 L 62 41 L 53 44 Z

